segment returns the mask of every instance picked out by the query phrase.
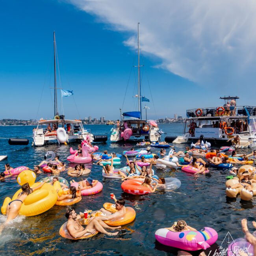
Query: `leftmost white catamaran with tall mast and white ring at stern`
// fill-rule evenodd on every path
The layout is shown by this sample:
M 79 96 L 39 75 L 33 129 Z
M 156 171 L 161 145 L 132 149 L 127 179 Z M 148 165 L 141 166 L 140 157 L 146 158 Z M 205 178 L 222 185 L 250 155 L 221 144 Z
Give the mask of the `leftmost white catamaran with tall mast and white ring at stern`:
M 67 120 L 64 115 L 59 115 L 57 105 L 57 83 L 56 83 L 56 41 L 54 32 L 54 118 L 40 120 L 37 128 L 33 129 L 33 145 L 44 146 L 49 142 L 58 142 L 57 129 L 64 128 L 67 133 L 67 142 L 70 140 L 84 140 L 89 136 L 91 142 L 106 141 L 106 135 L 93 135 L 90 130 L 83 128 L 80 120 Z

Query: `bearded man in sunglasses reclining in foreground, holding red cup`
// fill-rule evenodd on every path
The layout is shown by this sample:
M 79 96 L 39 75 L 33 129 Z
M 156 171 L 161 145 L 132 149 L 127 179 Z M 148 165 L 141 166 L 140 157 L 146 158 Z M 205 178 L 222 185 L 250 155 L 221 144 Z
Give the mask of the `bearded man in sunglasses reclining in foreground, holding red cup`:
M 82 215 L 83 213 L 81 213 Z M 78 215 L 75 211 L 75 208 L 69 208 L 66 211 L 66 218 L 68 219 L 67 223 L 67 230 L 69 231 L 69 234 L 74 238 L 79 238 L 84 236 L 86 233 L 95 234 L 96 231 L 107 234 L 109 236 L 116 236 L 118 232 L 110 233 L 107 232 L 104 228 L 109 229 L 116 229 L 119 227 L 110 227 L 106 223 L 100 220 L 92 219 L 89 221 L 89 224 L 86 226 L 86 228 L 83 228 L 83 226 L 79 223 L 79 219 L 81 219 L 81 215 Z M 89 220 L 89 219 L 88 219 Z

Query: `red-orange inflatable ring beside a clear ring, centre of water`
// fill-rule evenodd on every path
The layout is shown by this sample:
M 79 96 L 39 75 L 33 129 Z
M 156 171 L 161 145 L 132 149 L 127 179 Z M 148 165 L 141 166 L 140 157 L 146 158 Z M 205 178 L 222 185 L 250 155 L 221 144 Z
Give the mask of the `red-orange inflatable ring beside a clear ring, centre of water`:
M 151 189 L 148 187 L 141 186 L 143 181 L 132 179 L 132 180 L 125 180 L 121 184 L 121 188 L 124 192 L 132 195 L 147 195 L 151 193 Z

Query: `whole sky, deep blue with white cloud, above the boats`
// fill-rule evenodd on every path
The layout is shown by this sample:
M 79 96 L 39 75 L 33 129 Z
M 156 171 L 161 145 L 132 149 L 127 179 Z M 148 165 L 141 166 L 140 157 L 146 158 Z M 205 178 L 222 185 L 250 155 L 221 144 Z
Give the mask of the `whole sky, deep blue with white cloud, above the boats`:
M 182 2 L 2 1 L 0 119 L 53 117 L 54 30 L 61 86 L 74 91 L 63 98 L 66 118 L 136 110 L 137 22 L 148 118 L 221 106 L 223 95 L 254 105 L 255 5 Z

